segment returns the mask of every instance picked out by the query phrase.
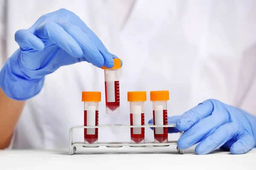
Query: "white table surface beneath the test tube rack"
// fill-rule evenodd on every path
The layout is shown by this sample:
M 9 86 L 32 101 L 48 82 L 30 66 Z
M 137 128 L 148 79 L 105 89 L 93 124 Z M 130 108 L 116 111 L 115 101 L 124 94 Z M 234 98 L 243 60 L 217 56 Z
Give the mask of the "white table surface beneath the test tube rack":
M 221 150 L 196 155 L 192 147 L 183 155 L 176 146 L 83 148 L 69 150 L 0 150 L 0 170 L 256 170 L 256 148 L 243 155 Z

